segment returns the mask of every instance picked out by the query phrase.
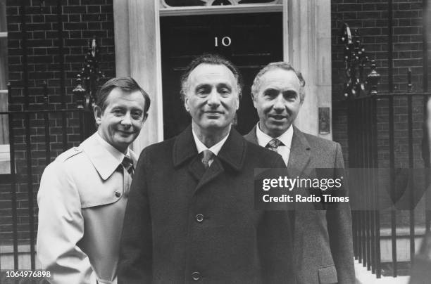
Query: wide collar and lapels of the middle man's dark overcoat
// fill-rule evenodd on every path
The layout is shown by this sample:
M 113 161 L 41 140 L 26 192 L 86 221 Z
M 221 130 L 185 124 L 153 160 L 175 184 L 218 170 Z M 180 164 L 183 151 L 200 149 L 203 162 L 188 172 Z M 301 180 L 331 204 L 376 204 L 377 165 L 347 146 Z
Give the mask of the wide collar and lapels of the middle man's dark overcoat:
M 173 162 L 174 167 L 178 167 L 180 164 L 189 161 L 188 171 L 198 181 L 196 186 L 197 191 L 202 186 L 219 177 L 226 170 L 241 170 L 244 165 L 245 152 L 246 141 L 235 129 L 231 129 L 225 144 L 220 149 L 218 155 L 214 157 L 211 167 L 206 170 L 198 157 L 192 127 L 189 126 L 177 136 L 173 150 Z

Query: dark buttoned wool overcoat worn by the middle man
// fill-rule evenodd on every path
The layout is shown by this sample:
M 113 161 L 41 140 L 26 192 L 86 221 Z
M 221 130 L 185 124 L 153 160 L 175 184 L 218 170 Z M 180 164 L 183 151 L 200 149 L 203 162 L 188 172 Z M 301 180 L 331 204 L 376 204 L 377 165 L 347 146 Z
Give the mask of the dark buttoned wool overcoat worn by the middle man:
M 254 169 L 280 155 L 235 129 L 207 170 L 192 128 L 144 149 L 130 189 L 118 283 L 292 283 L 287 211 L 254 208 Z

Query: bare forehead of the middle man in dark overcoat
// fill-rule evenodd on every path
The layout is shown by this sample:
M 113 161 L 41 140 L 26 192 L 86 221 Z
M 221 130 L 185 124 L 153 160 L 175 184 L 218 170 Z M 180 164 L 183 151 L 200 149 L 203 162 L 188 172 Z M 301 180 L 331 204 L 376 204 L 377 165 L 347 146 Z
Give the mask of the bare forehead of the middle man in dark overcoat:
M 237 79 L 232 71 L 222 64 L 201 63 L 197 65 L 188 77 L 189 83 L 192 84 L 237 84 Z

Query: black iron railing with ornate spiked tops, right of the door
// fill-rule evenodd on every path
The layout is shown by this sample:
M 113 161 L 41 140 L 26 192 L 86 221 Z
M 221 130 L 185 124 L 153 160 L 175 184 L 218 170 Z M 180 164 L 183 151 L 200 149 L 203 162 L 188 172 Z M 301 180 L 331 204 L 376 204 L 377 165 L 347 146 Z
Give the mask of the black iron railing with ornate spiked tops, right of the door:
M 431 194 L 427 193 L 430 144 L 425 139 L 429 136 L 425 119 L 430 115 L 426 105 L 431 96 L 427 49 L 423 48 L 423 92 L 412 93 L 408 68 L 406 91 L 394 93 L 392 1 L 388 5 L 388 93 L 377 92 L 380 75 L 358 32 L 344 23 L 340 37 L 344 44 L 349 168 L 361 169 L 353 171 L 349 183 L 354 200 L 354 255 L 377 278 L 408 273 L 418 237 L 430 231 L 431 219 Z M 366 76 L 368 65 L 371 72 Z

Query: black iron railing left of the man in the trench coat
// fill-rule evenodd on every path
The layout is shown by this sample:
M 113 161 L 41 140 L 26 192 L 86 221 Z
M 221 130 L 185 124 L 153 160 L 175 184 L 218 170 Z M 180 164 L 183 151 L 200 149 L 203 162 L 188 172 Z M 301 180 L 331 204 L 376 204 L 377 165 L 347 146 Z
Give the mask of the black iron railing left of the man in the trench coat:
M 2 185 L 10 187 L 12 214 L 12 238 L 3 235 L 1 239 L 12 240 L 13 269 L 15 270 L 22 269 L 22 266 L 18 263 L 19 245 L 28 245 L 30 247 L 30 253 L 28 254 L 30 267 L 27 267 L 27 269 L 36 268 L 35 217 L 37 214 L 35 210 L 35 193 L 37 192 L 39 179 L 35 177 L 39 177 L 41 172 L 35 173 L 34 169 L 36 171 L 44 169 L 51 160 L 54 160 L 58 153 L 63 152 L 71 146 L 71 142 L 67 139 L 68 135 L 65 135 L 65 141 L 61 139 L 61 143 L 57 143 L 56 138 L 58 136 L 56 134 L 60 134 L 60 136 L 63 136 L 63 133 L 69 135 L 75 134 L 82 141 L 85 138 L 85 121 L 89 120 L 89 117 L 92 116 L 92 112 L 82 107 L 54 109 L 54 105 L 51 105 L 48 101 L 49 96 L 46 84 L 44 84 L 43 90 L 44 98 L 46 98 L 45 103 L 44 105 L 39 105 L 37 110 L 9 110 L 7 112 L 0 112 L 0 115 L 8 116 L 9 124 L 11 173 L 8 175 L 8 182 L 2 183 Z M 13 89 L 9 84 L 9 101 L 12 101 L 12 95 Z M 66 121 L 63 123 L 59 119 L 65 119 Z M 58 125 L 57 127 L 52 125 L 54 122 Z M 23 136 L 15 134 L 17 125 L 24 125 L 25 131 Z M 72 132 L 70 132 L 71 127 L 74 129 Z M 37 131 L 43 129 L 43 135 L 35 134 L 35 129 Z M 51 133 L 53 129 L 55 129 L 56 134 Z M 74 131 L 77 131 L 77 133 Z M 80 141 L 73 139 L 75 143 Z M 36 143 L 37 147 L 42 145 L 43 147 L 35 147 Z M 22 195 L 23 199 L 20 200 L 18 195 Z M 25 198 L 25 195 L 27 195 L 27 198 Z M 25 221 L 25 219 L 28 219 L 28 221 Z M 7 232 L 1 232 L 1 234 L 7 234 Z M 3 245 L 8 245 L 7 241 L 4 243 Z

